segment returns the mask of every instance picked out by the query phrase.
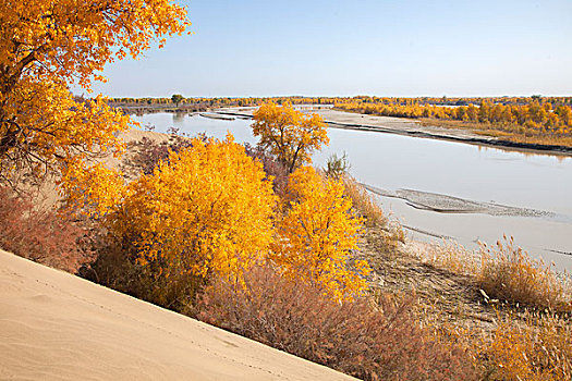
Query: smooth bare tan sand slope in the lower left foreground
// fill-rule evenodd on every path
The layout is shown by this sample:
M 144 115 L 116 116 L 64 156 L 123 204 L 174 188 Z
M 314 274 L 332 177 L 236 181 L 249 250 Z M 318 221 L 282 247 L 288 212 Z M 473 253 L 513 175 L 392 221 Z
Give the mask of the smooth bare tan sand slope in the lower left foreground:
M 351 379 L 2 250 L 0 354 L 2 380 Z

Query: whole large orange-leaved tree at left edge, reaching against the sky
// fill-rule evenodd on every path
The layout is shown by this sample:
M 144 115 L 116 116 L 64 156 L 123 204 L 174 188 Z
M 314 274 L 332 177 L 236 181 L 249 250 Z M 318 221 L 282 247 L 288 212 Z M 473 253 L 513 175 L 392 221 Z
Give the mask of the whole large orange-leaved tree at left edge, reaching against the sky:
M 0 1 L 1 180 L 22 171 L 40 179 L 120 149 L 113 134 L 129 119 L 101 97 L 74 100 L 68 86 L 89 91 L 106 63 L 135 58 L 188 24 L 169 0 Z

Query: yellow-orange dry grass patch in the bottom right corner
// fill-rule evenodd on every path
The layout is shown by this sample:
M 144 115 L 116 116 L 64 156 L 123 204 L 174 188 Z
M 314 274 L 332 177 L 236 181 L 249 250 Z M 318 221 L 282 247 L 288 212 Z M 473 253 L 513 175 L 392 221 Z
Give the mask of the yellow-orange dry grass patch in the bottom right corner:
M 496 312 L 494 325 L 486 329 L 436 321 L 427 310 L 418 314 L 436 340 L 471 354 L 482 380 L 572 380 L 570 315 Z

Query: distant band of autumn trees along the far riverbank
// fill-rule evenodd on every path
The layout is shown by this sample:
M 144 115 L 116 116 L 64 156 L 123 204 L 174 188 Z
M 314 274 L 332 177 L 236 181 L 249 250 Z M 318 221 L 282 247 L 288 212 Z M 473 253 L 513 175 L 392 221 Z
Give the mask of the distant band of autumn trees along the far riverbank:
M 207 111 L 222 107 L 329 105 L 338 110 L 373 115 L 427 119 L 430 123 L 484 131 L 526 143 L 572 146 L 572 97 L 389 98 L 389 97 L 268 97 L 268 98 L 114 98 L 109 103 L 126 113 L 169 110 Z

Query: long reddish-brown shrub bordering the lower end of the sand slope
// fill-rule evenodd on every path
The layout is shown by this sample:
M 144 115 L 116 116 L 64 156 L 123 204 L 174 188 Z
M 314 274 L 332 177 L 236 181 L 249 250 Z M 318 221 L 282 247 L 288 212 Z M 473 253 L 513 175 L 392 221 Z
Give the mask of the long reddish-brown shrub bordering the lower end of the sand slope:
M 364 380 L 476 379 L 465 353 L 429 340 L 411 307 L 389 296 L 340 304 L 265 266 L 244 274 L 244 287 L 212 280 L 197 316 Z

